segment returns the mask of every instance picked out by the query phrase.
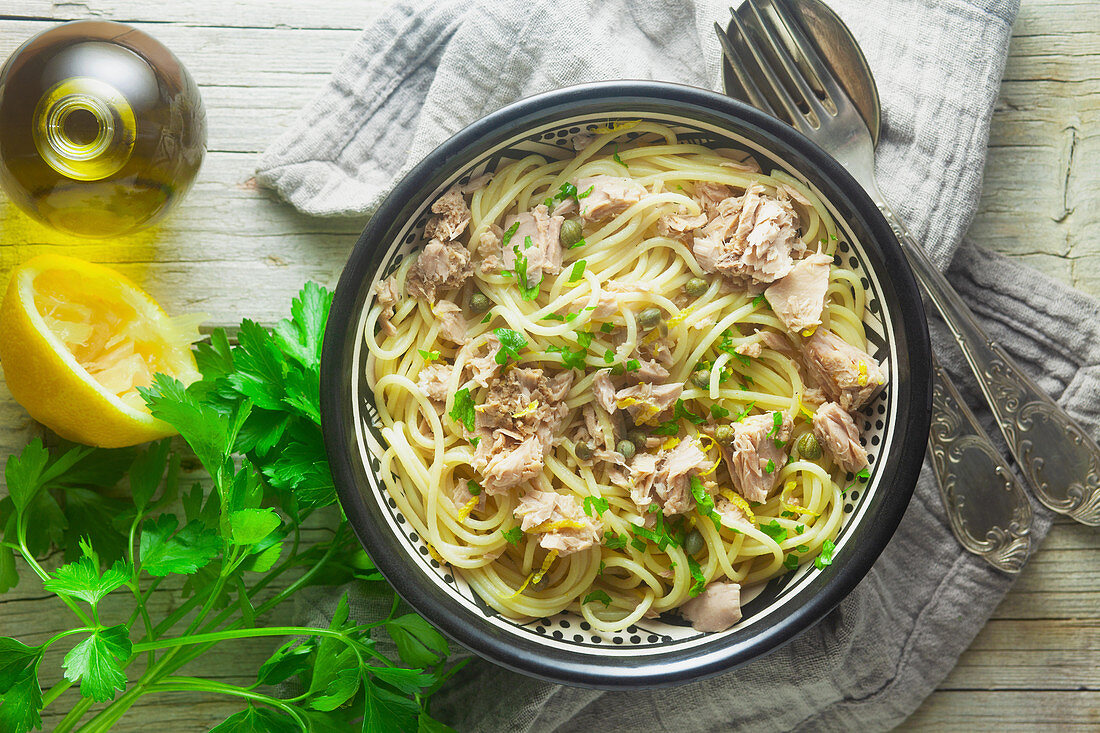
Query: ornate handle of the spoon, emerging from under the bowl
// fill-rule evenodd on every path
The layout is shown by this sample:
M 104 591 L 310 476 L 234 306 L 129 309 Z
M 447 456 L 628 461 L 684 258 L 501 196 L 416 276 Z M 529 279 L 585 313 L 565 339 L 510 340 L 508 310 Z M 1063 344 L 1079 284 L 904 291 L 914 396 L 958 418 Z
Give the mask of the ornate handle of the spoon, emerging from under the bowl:
M 933 358 L 928 450 L 952 532 L 1005 572 L 1031 553 L 1031 503 L 989 436 Z

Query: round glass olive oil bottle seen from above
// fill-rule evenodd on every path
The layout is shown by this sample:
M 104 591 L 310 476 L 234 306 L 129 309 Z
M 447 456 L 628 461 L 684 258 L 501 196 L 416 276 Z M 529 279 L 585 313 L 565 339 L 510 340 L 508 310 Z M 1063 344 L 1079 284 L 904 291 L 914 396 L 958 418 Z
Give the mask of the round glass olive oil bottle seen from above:
M 0 69 L 0 186 L 64 232 L 117 237 L 155 223 L 190 188 L 205 152 L 195 80 L 129 25 L 59 25 Z

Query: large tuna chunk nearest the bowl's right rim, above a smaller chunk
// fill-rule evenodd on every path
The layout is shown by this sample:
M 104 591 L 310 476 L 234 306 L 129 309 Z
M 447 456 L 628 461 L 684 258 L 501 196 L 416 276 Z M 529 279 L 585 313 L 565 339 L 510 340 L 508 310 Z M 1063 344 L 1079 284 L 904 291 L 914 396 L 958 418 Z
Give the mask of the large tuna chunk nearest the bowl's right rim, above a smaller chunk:
M 859 409 L 887 383 L 887 374 L 866 351 L 818 328 L 802 344 L 807 375 L 844 409 Z

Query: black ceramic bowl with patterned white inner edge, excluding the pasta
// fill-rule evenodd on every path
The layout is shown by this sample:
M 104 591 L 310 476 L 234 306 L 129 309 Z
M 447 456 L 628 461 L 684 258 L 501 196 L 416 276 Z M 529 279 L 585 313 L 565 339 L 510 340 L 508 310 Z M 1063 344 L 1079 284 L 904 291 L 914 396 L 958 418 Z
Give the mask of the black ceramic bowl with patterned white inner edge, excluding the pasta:
M 868 338 L 889 385 L 860 426 L 871 478 L 846 494 L 833 565 L 812 564 L 768 582 L 744 602 L 733 628 L 703 634 L 675 616 L 600 636 L 578 616 L 519 623 L 488 608 L 389 500 L 367 441 L 373 395 L 365 384 L 362 329 L 372 286 L 418 248 L 427 209 L 457 180 L 532 152 L 572 155 L 571 135 L 616 120 L 654 120 L 682 139 L 751 151 L 765 169 L 805 180 L 832 209 L 868 292 Z M 428 621 L 481 656 L 544 679 L 600 688 L 673 685 L 716 675 L 767 654 L 813 626 L 864 578 L 909 504 L 924 457 L 931 413 L 924 309 L 887 222 L 840 165 L 793 129 L 728 97 L 653 81 L 570 87 L 524 99 L 458 133 L 397 184 L 348 261 L 329 316 L 321 360 L 321 415 L 333 478 L 352 526 L 378 569 Z M 746 594 L 746 598 L 750 594 Z

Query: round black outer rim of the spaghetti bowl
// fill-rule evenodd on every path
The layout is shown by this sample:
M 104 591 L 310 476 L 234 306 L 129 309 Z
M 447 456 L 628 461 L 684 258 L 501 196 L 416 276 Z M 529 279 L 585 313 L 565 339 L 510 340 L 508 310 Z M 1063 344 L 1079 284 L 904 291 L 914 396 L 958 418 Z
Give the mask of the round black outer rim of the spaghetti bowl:
M 369 288 L 377 270 L 375 251 L 382 245 L 388 250 L 392 231 L 402 226 L 396 215 L 422 204 L 433 190 L 428 182 L 438 178 L 441 172 L 453 172 L 475 160 L 486 146 L 485 140 L 503 132 L 519 134 L 534 122 L 550 121 L 551 112 L 564 118 L 578 113 L 578 106 L 593 103 L 613 103 L 624 109 L 631 103 L 666 105 L 689 119 L 695 110 L 724 118 L 733 130 L 740 128 L 762 133 L 779 144 L 777 152 L 794 153 L 809 164 L 810 171 L 835 187 L 850 208 L 848 219 L 858 218 L 868 232 L 864 248 L 878 250 L 881 260 L 897 265 L 878 275 L 895 294 L 890 308 L 883 304 L 883 313 L 891 313 L 891 318 L 900 321 L 900 328 L 894 329 L 895 338 L 905 342 L 909 371 L 902 374 L 899 370 L 905 379 L 894 385 L 899 400 L 897 436 L 893 450 L 883 453 L 879 463 L 893 466 L 893 480 L 889 486 L 879 489 L 884 494 L 881 505 L 873 514 L 862 517 L 862 523 L 873 517 L 873 532 L 865 530 L 869 534 L 846 550 L 843 562 L 825 568 L 822 587 L 810 594 L 801 594 L 804 597 L 802 602 L 785 615 L 763 623 L 746 641 L 727 637 L 716 649 L 703 646 L 694 649 L 691 656 L 681 654 L 673 661 L 662 660 L 660 654 L 632 658 L 623 665 L 612 664 L 615 657 L 585 659 L 560 649 L 522 643 L 495 632 L 487 624 L 469 623 L 473 616 L 464 609 L 457 604 L 447 608 L 447 598 L 428 591 L 419 569 L 409 571 L 396 535 L 372 518 L 372 510 L 359 491 L 356 474 L 360 469 L 352 458 L 353 451 L 349 450 L 355 445 L 350 398 L 355 375 L 348 365 L 359 338 L 360 306 L 366 297 L 363 291 Z M 834 198 L 829 200 L 837 205 Z M 321 351 L 321 427 L 337 493 L 356 537 L 397 593 L 446 635 L 483 658 L 554 682 L 600 689 L 663 687 L 704 679 L 778 649 L 820 622 L 862 580 L 893 537 L 924 460 L 932 413 L 931 354 L 923 300 L 901 245 L 871 198 L 828 153 L 793 128 L 724 95 L 664 81 L 600 81 L 542 92 L 491 112 L 441 143 L 397 182 L 356 241 L 336 289 Z

